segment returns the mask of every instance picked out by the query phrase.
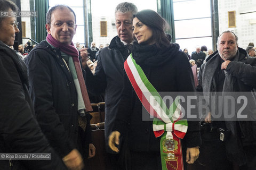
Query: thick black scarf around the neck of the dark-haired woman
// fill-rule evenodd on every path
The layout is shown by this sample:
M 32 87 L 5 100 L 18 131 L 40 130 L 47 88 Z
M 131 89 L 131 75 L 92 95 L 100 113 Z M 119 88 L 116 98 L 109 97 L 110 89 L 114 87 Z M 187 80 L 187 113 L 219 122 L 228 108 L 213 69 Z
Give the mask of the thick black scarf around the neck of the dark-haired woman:
M 170 44 L 168 47 L 159 48 L 156 44 L 140 45 L 138 41 L 134 41 L 132 57 L 139 65 L 158 66 L 177 56 L 179 48 L 178 44 Z

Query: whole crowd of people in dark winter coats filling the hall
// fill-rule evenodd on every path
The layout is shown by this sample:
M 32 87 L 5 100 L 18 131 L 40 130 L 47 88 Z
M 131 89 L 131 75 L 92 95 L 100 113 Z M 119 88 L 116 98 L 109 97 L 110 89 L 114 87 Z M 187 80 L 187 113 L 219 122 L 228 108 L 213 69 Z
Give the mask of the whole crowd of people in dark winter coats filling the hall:
M 18 10 L 10 0 L 0 4 L 0 11 Z M 98 101 L 105 101 L 111 169 L 255 169 L 254 45 L 238 47 L 228 30 L 217 51 L 197 46 L 190 56 L 171 43 L 169 25 L 153 10 L 119 3 L 115 20 L 109 45 L 74 45 L 76 14 L 55 5 L 45 40 L 26 53 L 23 45 L 9 48 L 16 19 L 0 18 L 0 152 L 51 153 L 49 160 L 3 159 L 0 169 L 87 169 L 84 160 L 97 152 L 90 112 Z M 171 93 L 170 104 L 162 92 Z M 242 114 L 250 120 L 228 117 L 241 114 L 225 103 L 238 92 L 249 99 Z M 183 102 L 199 94 L 202 100 Z

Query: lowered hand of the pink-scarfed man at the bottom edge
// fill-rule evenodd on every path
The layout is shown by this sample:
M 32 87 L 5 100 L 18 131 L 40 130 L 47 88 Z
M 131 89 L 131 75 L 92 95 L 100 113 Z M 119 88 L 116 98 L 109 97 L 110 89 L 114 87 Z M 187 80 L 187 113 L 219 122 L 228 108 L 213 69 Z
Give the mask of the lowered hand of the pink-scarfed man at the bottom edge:
M 71 150 L 62 160 L 68 169 L 71 170 L 81 170 L 84 167 L 82 156 L 77 149 Z

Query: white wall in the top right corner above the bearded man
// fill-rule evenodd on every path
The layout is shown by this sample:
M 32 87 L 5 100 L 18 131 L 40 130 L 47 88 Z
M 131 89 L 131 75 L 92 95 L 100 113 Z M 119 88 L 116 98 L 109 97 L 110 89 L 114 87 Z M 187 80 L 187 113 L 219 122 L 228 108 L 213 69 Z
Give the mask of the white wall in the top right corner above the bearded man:
M 256 1 L 255 0 L 219 0 L 219 29 L 220 33 L 225 30 L 235 32 L 238 37 L 238 46 L 246 48 L 249 43 L 256 46 L 256 22 L 250 24 L 250 21 L 256 21 Z M 239 14 L 241 12 L 253 13 Z M 228 28 L 228 11 L 236 11 L 236 27 Z

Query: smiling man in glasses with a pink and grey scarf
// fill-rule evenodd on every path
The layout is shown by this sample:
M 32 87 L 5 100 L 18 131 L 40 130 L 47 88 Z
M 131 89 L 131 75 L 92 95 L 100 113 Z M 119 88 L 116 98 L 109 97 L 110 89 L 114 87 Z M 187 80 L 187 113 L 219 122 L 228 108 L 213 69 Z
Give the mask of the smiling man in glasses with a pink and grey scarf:
M 46 40 L 26 58 L 29 92 L 39 125 L 51 145 L 69 169 L 82 169 L 81 154 L 87 158 L 90 148 L 92 157 L 95 148 L 90 139 L 91 104 L 79 54 L 72 43 L 76 30 L 74 11 L 66 5 L 53 6 L 46 14 L 46 29 Z

